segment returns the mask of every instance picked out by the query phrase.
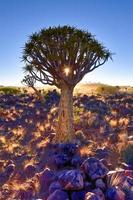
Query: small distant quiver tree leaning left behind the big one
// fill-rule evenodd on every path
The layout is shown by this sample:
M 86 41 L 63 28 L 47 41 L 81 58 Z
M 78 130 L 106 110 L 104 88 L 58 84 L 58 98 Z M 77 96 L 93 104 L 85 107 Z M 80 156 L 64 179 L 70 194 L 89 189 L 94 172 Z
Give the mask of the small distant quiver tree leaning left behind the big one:
M 35 93 L 38 96 L 39 100 L 44 102 L 44 96 L 35 87 L 36 79 L 33 76 L 31 76 L 31 75 L 24 76 L 24 78 L 21 81 L 21 83 L 26 85 L 26 86 L 28 86 L 28 87 L 31 87 L 35 91 Z

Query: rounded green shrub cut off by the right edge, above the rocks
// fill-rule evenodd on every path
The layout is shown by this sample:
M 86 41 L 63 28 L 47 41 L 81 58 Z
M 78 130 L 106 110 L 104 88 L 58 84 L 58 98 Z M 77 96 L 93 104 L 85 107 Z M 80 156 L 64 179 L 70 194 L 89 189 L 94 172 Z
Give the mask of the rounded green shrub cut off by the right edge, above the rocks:
M 133 145 L 129 144 L 123 151 L 122 151 L 123 160 L 128 165 L 133 165 Z

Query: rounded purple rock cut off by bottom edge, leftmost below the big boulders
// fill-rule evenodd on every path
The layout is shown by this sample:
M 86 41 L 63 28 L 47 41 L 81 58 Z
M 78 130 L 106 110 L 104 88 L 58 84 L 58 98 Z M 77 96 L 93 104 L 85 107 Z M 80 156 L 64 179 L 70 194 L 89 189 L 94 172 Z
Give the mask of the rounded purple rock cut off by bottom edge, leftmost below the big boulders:
M 62 190 L 53 192 L 47 200 L 69 200 L 68 194 Z

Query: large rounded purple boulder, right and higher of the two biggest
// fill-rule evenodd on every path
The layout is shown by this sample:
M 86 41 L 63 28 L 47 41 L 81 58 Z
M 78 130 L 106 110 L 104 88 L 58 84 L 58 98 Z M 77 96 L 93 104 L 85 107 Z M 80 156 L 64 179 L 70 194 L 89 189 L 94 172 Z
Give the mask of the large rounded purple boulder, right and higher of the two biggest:
M 81 165 L 81 168 L 92 180 L 104 178 L 109 171 L 101 161 L 94 157 L 87 158 Z

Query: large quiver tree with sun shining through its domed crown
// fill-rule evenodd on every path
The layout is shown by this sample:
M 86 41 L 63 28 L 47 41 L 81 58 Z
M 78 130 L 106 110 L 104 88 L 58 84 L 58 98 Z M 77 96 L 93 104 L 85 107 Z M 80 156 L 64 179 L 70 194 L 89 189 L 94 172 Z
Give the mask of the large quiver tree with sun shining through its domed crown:
M 85 74 L 103 65 L 111 53 L 91 33 L 70 26 L 42 29 L 25 44 L 25 70 L 35 80 L 61 90 L 56 139 L 71 141 L 73 89 Z

